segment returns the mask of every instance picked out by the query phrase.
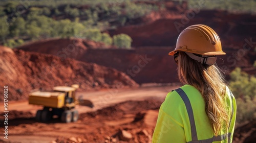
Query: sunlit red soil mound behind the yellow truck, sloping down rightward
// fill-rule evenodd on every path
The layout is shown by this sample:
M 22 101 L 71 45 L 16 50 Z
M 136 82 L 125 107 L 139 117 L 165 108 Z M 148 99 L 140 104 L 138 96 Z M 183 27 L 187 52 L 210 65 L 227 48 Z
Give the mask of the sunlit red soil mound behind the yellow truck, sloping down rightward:
M 31 89 L 58 85 L 79 84 L 80 90 L 137 86 L 124 73 L 94 63 L 22 50 L 13 52 L 6 47 L 0 47 L 0 55 L 0 86 L 8 86 L 9 100 L 27 99 Z

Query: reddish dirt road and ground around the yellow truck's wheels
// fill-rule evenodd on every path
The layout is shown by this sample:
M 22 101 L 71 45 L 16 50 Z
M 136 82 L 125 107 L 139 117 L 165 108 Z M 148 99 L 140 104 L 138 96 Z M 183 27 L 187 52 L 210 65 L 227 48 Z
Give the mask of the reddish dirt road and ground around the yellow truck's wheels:
M 125 126 L 125 129 L 137 128 L 137 130 L 141 130 L 144 126 L 155 125 L 152 121 L 152 115 L 157 116 L 157 111 L 148 112 L 147 116 L 150 117 L 145 121 L 145 124 L 144 121 L 133 121 L 135 121 L 137 114 L 143 113 L 144 110 L 156 110 L 161 105 L 167 92 L 176 88 L 174 86 L 155 86 L 78 92 L 78 97 L 90 99 L 95 107 L 91 109 L 77 106 L 76 108 L 80 113 L 79 120 L 76 123 L 69 124 L 60 123 L 57 118 L 49 123 L 38 123 L 35 121 L 34 115 L 36 110 L 42 107 L 28 105 L 27 101 L 10 102 L 9 114 L 11 115 L 13 112 L 16 116 L 11 115 L 8 121 L 8 140 L 4 139 L 3 134 L 0 135 L 0 139 L 10 142 L 50 142 L 57 137 L 80 136 L 86 140 L 85 142 L 104 142 L 105 136 L 112 136 L 123 126 Z M 143 101 L 148 99 L 151 100 Z M 116 105 L 124 101 L 131 102 Z M 2 108 L 0 112 L 3 112 Z M 0 119 L 3 120 L 3 117 Z M 3 128 L 1 127 L 0 130 L 3 131 Z M 131 132 L 135 131 L 131 130 Z M 152 128 L 148 129 L 148 133 L 152 134 Z M 137 140 L 139 139 L 137 138 Z

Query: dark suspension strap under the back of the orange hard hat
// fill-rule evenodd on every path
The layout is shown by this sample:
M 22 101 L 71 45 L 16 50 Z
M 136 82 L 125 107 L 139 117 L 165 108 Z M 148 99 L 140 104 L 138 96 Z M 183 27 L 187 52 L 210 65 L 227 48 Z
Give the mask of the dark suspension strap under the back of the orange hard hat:
M 202 55 L 202 57 L 197 56 L 193 53 L 185 52 L 191 59 L 194 59 L 201 64 L 206 64 L 206 65 L 213 65 L 215 64 L 217 57 L 216 55 Z

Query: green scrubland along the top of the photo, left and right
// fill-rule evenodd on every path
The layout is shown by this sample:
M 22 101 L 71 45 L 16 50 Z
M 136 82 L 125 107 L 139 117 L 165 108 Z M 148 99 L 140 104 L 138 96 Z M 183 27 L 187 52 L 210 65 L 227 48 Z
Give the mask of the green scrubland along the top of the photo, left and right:
M 148 0 L 137 0 L 148 1 Z M 163 0 L 155 0 L 164 2 Z M 0 44 L 17 46 L 24 41 L 49 37 L 81 37 L 111 45 L 106 29 L 124 26 L 133 19 L 164 8 L 151 4 L 135 4 L 133 0 L 39 0 L 5 1 L 0 4 Z M 152 1 L 150 1 L 152 2 Z M 179 1 L 181 2 L 181 1 Z M 204 3 L 202 9 L 223 9 L 255 13 L 256 1 L 210 2 L 189 0 L 188 8 Z M 93 36 L 90 34 L 93 33 Z M 96 37 L 95 37 L 96 36 Z

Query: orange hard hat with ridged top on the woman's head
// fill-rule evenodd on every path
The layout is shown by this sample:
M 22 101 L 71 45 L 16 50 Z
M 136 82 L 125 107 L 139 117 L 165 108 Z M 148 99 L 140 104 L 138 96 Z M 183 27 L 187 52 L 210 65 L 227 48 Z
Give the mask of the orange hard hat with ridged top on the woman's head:
M 174 51 L 169 55 L 183 51 L 199 55 L 225 55 L 221 49 L 221 40 L 218 34 L 205 25 L 193 25 L 184 29 L 176 43 Z

